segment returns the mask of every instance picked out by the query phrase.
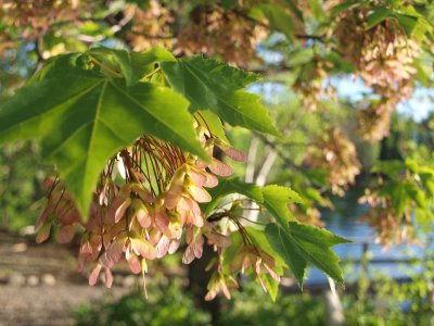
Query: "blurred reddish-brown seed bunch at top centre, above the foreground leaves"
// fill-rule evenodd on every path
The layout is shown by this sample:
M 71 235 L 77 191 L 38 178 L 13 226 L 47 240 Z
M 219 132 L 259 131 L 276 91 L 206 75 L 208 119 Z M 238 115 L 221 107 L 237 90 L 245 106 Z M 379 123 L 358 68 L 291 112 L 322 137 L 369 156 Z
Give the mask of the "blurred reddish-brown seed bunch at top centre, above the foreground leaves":
M 266 30 L 240 15 L 242 10 L 196 7 L 189 23 L 179 32 L 177 51 L 188 55 L 197 52 L 220 55 L 230 64 L 244 66 L 256 58 L 256 46 L 266 37 Z

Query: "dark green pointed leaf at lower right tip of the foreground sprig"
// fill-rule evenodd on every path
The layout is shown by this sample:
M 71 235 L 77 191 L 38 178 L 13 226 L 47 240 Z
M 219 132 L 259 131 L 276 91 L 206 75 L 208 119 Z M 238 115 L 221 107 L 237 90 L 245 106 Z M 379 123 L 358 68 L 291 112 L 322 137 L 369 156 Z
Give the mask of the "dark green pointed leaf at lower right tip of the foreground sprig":
M 290 266 L 302 288 L 307 263 L 321 269 L 339 284 L 344 283 L 339 265 L 340 258 L 330 247 L 350 242 L 349 240 L 326 229 L 296 222 L 290 222 L 285 227 L 269 224 L 266 227 L 266 234 L 271 247 Z

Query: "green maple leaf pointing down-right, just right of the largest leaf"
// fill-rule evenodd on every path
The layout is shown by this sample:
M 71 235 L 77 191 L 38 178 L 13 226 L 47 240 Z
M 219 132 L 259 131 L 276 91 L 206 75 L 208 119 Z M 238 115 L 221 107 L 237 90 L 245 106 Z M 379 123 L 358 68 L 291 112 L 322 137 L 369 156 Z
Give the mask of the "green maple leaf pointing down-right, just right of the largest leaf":
M 191 111 L 210 110 L 231 125 L 279 135 L 260 98 L 242 90 L 257 82 L 257 75 L 202 57 L 163 62 L 162 70 L 171 87 L 189 99 Z

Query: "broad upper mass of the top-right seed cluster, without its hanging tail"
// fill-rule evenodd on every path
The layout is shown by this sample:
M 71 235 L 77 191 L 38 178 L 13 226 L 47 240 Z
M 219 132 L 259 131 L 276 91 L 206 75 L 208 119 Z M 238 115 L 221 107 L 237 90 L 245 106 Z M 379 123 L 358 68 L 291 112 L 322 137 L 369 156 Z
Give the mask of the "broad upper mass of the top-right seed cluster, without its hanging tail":
M 375 87 L 378 93 L 390 89 L 399 91 L 401 84 L 416 73 L 412 63 L 419 54 L 419 46 L 395 20 L 385 20 L 368 29 L 367 14 L 367 9 L 358 8 L 337 17 L 334 34 L 339 38 L 339 51 L 354 63 L 357 74 L 367 86 Z

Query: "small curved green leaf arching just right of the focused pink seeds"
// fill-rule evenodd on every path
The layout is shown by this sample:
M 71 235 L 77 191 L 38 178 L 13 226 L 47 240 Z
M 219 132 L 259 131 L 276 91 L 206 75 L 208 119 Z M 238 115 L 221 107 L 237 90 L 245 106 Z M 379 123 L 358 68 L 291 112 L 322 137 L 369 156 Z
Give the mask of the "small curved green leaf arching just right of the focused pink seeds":
M 222 197 L 231 193 L 244 195 L 258 203 L 263 202 L 260 187 L 244 183 L 240 178 L 219 179 L 217 187 L 209 189 L 208 192 L 213 200 L 204 205 L 205 215 L 208 215 L 216 208 Z

